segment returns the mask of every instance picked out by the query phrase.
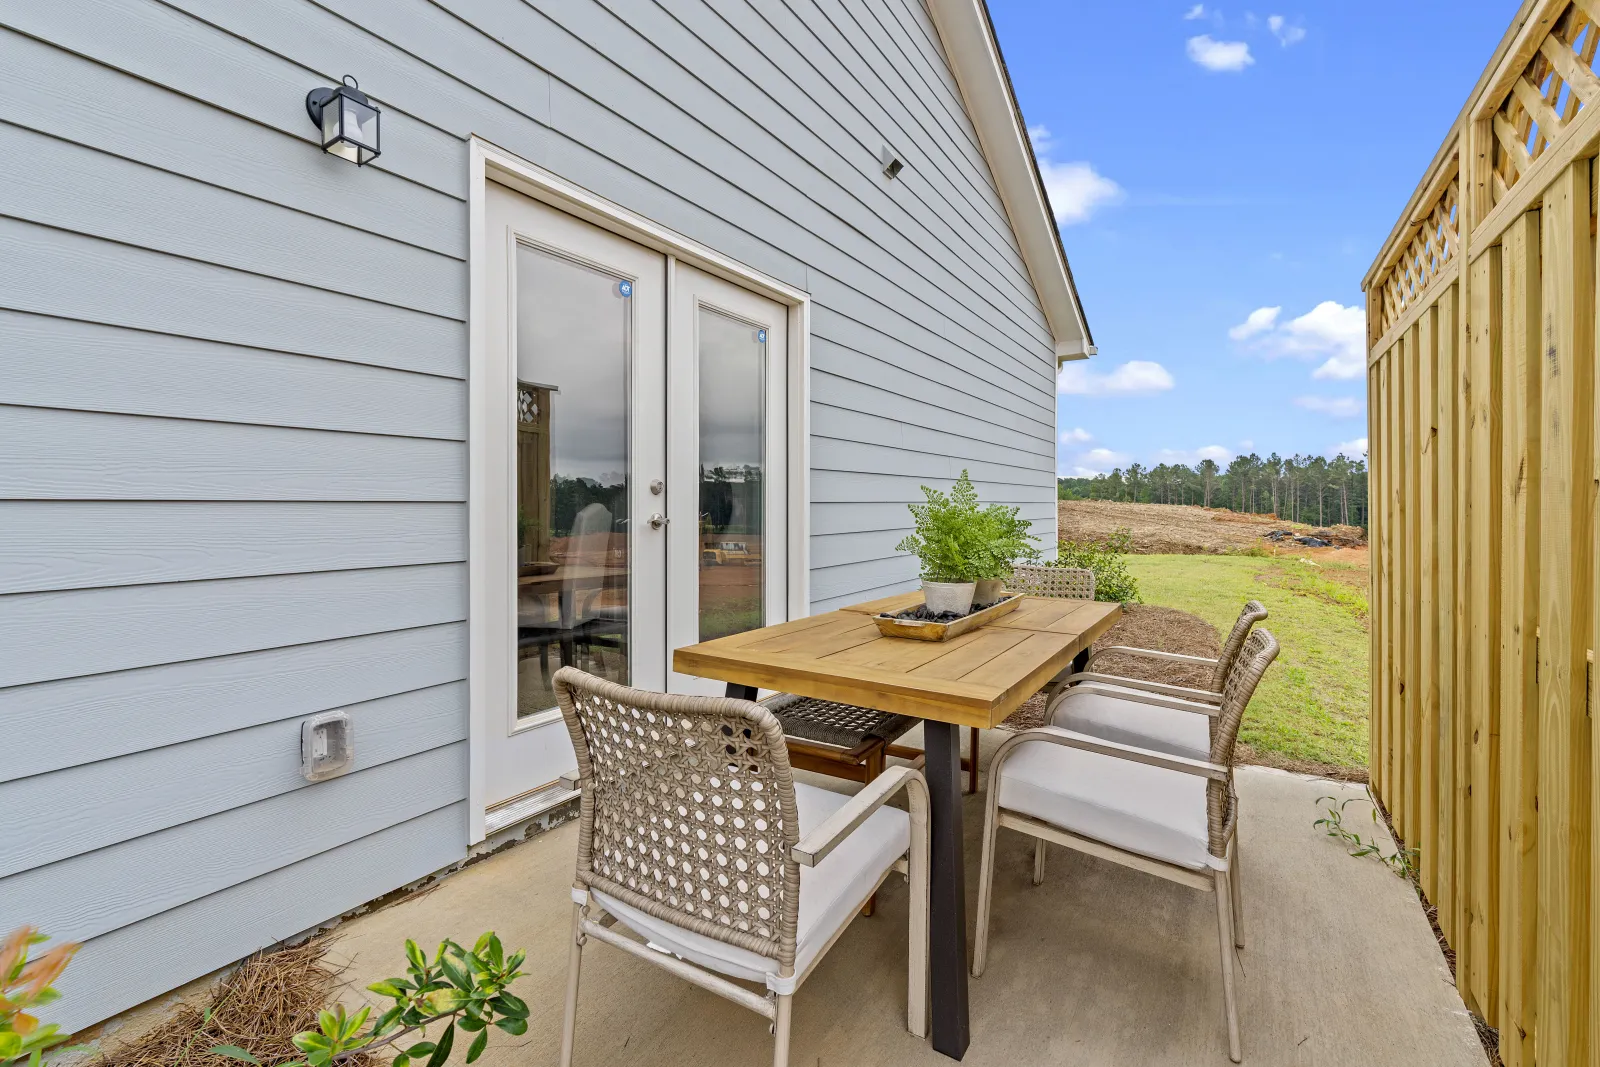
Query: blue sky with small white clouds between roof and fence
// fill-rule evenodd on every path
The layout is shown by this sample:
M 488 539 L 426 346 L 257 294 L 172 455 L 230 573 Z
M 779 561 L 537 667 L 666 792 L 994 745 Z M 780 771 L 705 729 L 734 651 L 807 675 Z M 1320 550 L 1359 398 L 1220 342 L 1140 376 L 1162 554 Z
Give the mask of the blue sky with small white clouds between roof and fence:
M 1357 454 L 1362 275 L 1517 5 L 989 8 L 1099 346 L 1059 472 Z

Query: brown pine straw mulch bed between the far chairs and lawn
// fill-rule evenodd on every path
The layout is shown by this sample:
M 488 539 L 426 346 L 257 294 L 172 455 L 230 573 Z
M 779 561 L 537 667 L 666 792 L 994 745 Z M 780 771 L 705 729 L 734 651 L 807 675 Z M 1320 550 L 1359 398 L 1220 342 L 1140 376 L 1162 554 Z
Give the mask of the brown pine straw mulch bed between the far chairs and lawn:
M 1130 645 L 1133 648 L 1158 648 L 1165 653 L 1182 653 L 1186 656 L 1216 656 L 1221 643 L 1222 640 L 1216 627 L 1200 616 L 1178 611 L 1176 608 L 1123 605 L 1122 619 L 1117 625 L 1106 630 L 1101 640 L 1094 641 L 1094 648 Z M 1203 688 L 1211 681 L 1210 667 L 1138 659 L 1115 653 L 1096 659 L 1094 670 L 1194 688 Z M 1011 717 L 1000 726 L 1002 729 L 1030 729 L 1043 725 L 1045 694 L 1040 693 L 1011 712 Z M 1315 774 L 1341 782 L 1366 782 L 1366 768 L 1363 766 L 1338 766 L 1312 760 L 1296 760 L 1277 752 L 1261 752 L 1243 742 L 1238 744 L 1235 755 L 1240 763 L 1272 766 L 1280 771 L 1294 771 L 1296 774 Z

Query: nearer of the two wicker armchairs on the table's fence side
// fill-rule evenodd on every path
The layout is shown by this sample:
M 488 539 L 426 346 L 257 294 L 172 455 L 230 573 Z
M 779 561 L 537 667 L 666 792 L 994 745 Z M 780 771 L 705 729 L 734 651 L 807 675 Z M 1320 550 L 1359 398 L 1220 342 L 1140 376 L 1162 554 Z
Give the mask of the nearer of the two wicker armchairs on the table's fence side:
M 1253 630 L 1222 686 L 1221 704 L 1192 705 L 1195 713 L 1216 718 L 1206 760 L 1061 726 L 1026 729 L 1000 745 L 989 765 L 973 977 L 982 976 L 989 960 L 995 837 L 1000 827 L 1019 830 L 1216 894 L 1227 1051 L 1235 1064 L 1240 1061 L 1234 990 L 1242 912 L 1234 747 L 1245 705 L 1277 654 L 1277 638 L 1269 630 Z

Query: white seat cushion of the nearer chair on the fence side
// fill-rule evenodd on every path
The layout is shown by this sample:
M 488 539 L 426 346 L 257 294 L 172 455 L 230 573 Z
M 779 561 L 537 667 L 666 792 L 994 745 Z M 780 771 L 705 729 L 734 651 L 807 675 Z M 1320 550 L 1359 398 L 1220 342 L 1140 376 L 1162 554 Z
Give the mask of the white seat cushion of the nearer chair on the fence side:
M 1206 851 L 1206 779 L 1048 741 L 1018 745 L 1000 769 L 1000 806 L 1078 837 L 1190 870 Z

